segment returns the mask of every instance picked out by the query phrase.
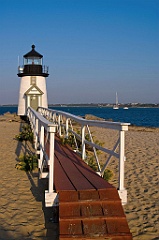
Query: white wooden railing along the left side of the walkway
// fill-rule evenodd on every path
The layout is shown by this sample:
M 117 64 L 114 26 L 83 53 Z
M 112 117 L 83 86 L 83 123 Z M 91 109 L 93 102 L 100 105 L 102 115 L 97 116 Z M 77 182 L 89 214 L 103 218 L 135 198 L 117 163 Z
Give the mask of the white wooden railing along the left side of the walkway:
M 48 190 L 45 191 L 45 205 L 58 204 L 57 193 L 54 192 L 54 137 L 57 126 L 44 118 L 32 108 L 27 109 L 27 116 L 34 134 L 34 147 L 39 154 L 38 168 L 40 177 L 48 177 Z M 44 169 L 48 168 L 49 172 Z M 48 175 L 48 176 L 46 176 Z

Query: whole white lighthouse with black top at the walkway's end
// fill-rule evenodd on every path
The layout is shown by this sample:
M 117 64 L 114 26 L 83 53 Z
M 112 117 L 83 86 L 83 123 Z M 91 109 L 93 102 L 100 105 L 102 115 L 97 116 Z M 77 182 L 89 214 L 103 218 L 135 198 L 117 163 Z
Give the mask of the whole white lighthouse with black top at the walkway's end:
M 48 108 L 46 77 L 48 67 L 43 65 L 43 56 L 32 50 L 23 56 L 23 66 L 18 67 L 20 80 L 18 115 L 25 116 L 28 107 L 37 110 L 38 107 Z

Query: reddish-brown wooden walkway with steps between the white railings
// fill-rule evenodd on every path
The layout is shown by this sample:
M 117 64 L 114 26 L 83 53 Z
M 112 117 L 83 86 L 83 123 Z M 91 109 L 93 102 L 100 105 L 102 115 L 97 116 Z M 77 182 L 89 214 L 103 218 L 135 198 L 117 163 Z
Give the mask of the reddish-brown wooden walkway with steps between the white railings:
M 59 193 L 60 240 L 132 239 L 116 188 L 57 137 L 54 183 Z

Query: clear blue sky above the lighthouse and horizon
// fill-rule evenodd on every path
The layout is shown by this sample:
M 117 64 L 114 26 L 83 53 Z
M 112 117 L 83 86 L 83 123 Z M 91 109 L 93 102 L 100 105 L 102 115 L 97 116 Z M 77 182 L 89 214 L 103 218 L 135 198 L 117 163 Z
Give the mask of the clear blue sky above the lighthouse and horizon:
M 159 103 L 159 0 L 0 0 L 0 105 L 32 44 L 50 104 Z

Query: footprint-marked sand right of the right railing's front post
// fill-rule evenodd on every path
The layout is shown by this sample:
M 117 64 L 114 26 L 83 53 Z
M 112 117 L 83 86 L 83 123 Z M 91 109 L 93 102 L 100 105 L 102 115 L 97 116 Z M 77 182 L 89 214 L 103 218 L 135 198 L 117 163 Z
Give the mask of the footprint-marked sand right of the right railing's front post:
M 159 129 L 126 133 L 125 213 L 134 239 L 159 239 Z

